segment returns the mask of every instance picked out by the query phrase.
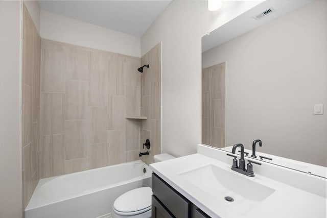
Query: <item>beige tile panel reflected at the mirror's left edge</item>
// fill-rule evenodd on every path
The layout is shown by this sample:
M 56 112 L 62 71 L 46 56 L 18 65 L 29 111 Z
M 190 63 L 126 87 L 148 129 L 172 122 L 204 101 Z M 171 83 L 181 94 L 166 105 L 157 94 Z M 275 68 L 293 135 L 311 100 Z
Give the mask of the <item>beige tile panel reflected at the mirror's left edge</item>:
M 225 62 L 202 69 L 202 143 L 225 147 Z

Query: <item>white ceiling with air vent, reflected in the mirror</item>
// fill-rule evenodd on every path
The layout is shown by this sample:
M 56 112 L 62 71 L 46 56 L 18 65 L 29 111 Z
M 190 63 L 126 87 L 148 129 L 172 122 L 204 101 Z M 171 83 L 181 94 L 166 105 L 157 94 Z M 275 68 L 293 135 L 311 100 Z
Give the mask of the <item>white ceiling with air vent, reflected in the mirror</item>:
M 250 30 L 260 27 L 273 19 L 281 17 L 291 11 L 299 9 L 314 0 L 266 0 L 246 11 L 225 25 L 202 37 L 202 52 L 208 51 L 230 39 L 238 37 Z M 253 17 L 273 8 L 275 11 L 269 15 L 255 20 Z

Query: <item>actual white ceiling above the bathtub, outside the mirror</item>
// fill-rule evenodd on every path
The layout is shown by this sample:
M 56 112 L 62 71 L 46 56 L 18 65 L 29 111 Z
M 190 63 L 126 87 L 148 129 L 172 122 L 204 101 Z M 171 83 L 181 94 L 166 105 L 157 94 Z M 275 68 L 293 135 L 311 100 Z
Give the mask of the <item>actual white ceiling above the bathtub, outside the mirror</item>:
M 172 0 L 39 1 L 40 8 L 141 37 Z

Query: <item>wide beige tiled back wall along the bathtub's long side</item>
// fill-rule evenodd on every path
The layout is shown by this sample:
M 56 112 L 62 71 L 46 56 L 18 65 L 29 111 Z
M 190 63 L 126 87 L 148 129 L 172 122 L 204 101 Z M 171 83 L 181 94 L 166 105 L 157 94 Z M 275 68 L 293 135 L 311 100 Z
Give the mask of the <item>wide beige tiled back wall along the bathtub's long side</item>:
M 139 159 L 139 58 L 42 39 L 40 177 Z

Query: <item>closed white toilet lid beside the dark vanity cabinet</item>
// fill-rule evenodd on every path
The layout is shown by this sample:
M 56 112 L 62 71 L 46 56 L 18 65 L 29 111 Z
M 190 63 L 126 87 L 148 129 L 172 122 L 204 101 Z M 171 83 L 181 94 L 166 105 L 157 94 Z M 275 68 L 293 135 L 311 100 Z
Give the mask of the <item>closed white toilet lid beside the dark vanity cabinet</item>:
M 152 189 L 150 187 L 135 188 L 123 193 L 113 203 L 118 213 L 141 213 L 151 209 Z

